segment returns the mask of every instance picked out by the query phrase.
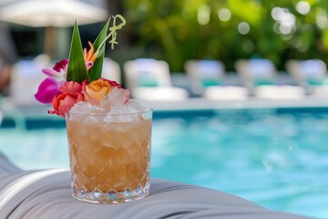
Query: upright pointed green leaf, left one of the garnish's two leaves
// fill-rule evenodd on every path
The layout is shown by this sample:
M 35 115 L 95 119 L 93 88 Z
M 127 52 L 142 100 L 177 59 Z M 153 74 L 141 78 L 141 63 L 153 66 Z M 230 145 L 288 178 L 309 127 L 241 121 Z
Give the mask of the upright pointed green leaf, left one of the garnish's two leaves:
M 69 51 L 69 63 L 67 68 L 67 81 L 73 80 L 81 83 L 87 77 L 87 67 L 83 56 L 81 38 L 78 32 L 77 21 L 73 28 L 73 36 Z M 88 78 L 89 79 L 89 78 Z

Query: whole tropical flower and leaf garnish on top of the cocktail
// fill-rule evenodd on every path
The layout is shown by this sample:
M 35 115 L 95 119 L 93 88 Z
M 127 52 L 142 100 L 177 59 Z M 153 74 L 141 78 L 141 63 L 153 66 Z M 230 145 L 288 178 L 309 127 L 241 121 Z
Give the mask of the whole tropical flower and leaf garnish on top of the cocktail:
M 117 25 L 117 22 L 120 24 Z M 63 59 L 53 68 L 43 68 L 47 78 L 41 82 L 36 92 L 36 99 L 42 103 L 51 103 L 54 110 L 50 114 L 61 117 L 79 101 L 98 105 L 100 100 L 110 95 L 114 88 L 123 89 L 116 81 L 101 78 L 106 42 L 109 38 L 111 48 L 114 48 L 117 31 L 126 25 L 123 16 L 113 16 L 113 24 L 108 27 L 110 18 L 101 30 L 94 43 L 88 42 L 89 50 L 82 49 L 77 22 L 73 28 L 69 59 Z M 109 30 L 109 34 L 108 34 Z M 126 100 L 129 91 L 125 89 Z

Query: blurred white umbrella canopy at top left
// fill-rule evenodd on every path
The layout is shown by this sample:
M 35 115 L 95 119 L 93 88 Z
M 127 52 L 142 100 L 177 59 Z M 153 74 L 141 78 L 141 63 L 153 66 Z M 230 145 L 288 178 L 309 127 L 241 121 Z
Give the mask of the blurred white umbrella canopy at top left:
M 0 8 L 0 20 L 23 26 L 73 26 L 102 22 L 108 11 L 77 0 L 25 0 Z

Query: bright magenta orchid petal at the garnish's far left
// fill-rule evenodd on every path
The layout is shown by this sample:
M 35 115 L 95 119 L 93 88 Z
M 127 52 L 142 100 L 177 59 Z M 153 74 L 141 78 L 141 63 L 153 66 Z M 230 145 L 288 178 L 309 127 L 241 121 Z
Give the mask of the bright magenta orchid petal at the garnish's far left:
M 42 103 L 51 103 L 58 94 L 60 94 L 58 82 L 53 78 L 46 78 L 39 85 L 35 97 Z

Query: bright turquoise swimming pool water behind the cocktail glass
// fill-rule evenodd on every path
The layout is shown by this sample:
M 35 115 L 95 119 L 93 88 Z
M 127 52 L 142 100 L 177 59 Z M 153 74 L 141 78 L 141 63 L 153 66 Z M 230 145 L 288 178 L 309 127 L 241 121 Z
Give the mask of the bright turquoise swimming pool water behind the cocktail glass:
M 27 126 L 0 129 L 0 151 L 24 169 L 68 167 L 64 121 Z M 327 218 L 327 142 L 328 109 L 159 111 L 151 175 Z

